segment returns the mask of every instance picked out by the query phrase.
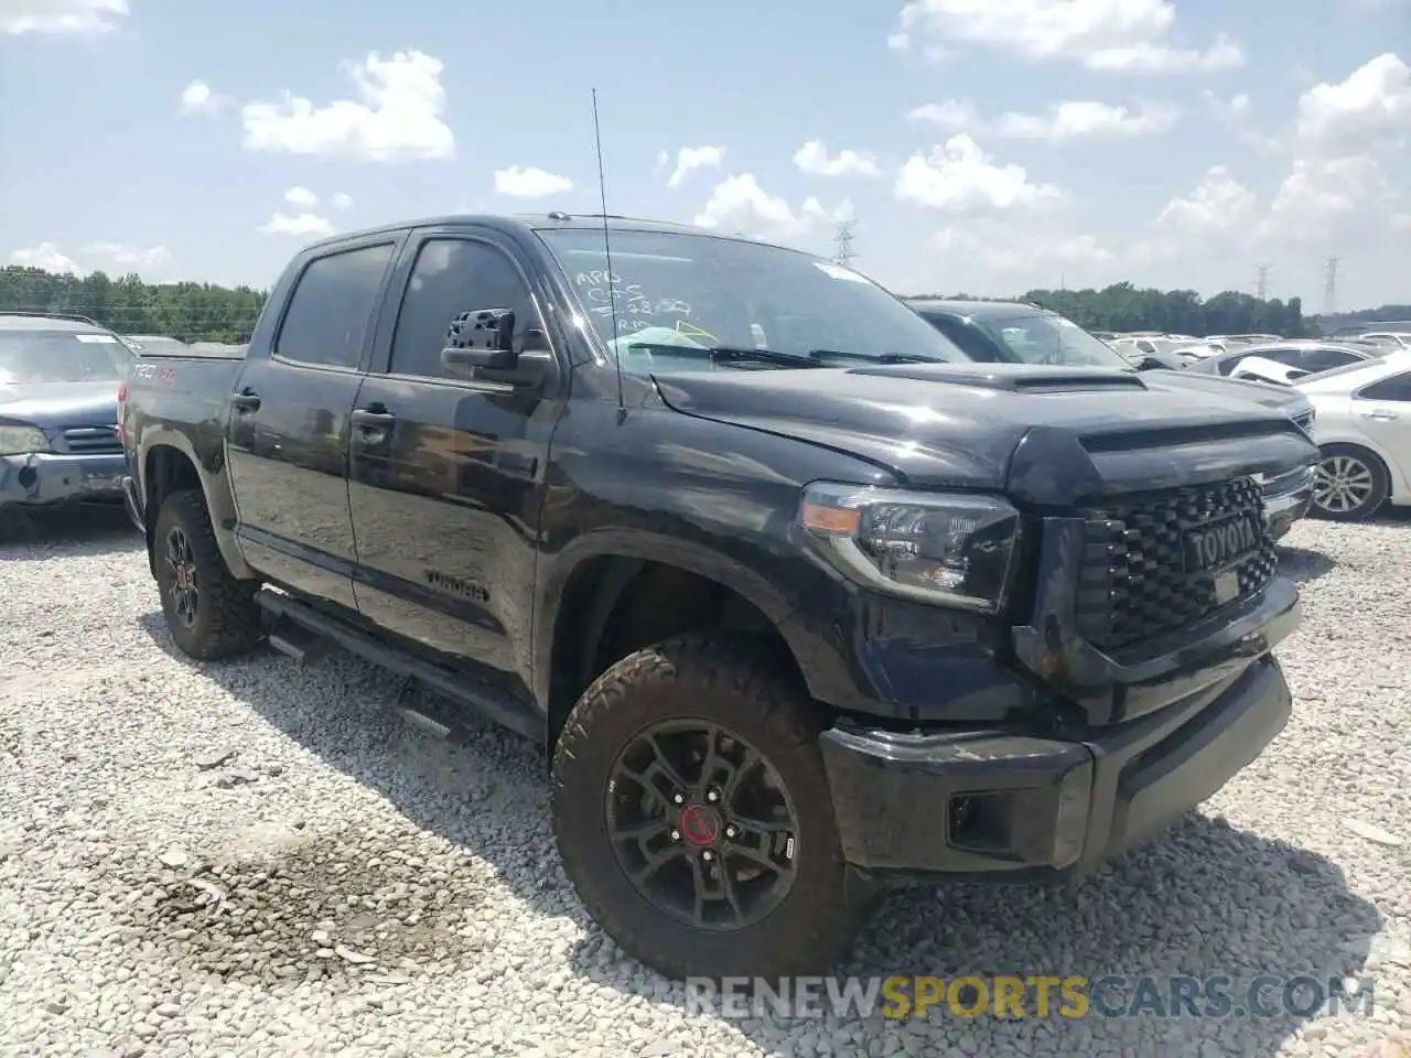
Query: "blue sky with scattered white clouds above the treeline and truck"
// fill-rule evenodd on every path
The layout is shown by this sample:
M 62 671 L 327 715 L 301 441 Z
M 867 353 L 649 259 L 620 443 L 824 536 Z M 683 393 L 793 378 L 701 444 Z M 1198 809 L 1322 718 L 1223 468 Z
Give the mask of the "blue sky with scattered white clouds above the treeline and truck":
M 0 261 L 268 285 L 327 230 L 595 210 L 597 87 L 612 212 L 851 217 L 904 292 L 1267 264 L 1315 312 L 1336 255 L 1338 308 L 1405 302 L 1407 63 L 1411 0 L 0 0 Z

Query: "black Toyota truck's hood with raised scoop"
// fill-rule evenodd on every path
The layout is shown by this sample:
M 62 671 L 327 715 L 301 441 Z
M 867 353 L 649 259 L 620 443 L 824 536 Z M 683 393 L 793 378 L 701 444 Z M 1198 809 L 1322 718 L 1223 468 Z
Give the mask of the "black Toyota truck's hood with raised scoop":
M 1000 491 L 1037 506 L 1316 461 L 1287 413 L 1235 387 L 1163 387 L 1150 374 L 1174 372 L 889 364 L 653 381 L 683 415 L 828 447 L 903 485 Z

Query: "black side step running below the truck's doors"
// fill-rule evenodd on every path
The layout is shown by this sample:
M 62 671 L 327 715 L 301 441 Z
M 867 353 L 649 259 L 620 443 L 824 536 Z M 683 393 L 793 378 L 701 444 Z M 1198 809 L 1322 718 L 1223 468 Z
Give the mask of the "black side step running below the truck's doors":
M 409 650 L 384 643 L 370 632 L 329 616 L 308 602 L 281 591 L 261 588 L 255 592 L 255 602 L 274 616 L 270 646 L 295 660 L 306 660 L 332 642 L 373 664 L 420 683 L 485 719 L 543 742 L 546 734 L 543 717 L 531 705 L 497 687 L 476 683 L 452 669 L 418 657 Z M 442 736 L 466 726 L 464 721 L 457 721 L 454 717 L 435 710 L 429 703 L 418 703 L 413 708 L 405 704 L 408 694 L 404 693 L 401 697 L 402 700 L 396 704 L 399 712 Z

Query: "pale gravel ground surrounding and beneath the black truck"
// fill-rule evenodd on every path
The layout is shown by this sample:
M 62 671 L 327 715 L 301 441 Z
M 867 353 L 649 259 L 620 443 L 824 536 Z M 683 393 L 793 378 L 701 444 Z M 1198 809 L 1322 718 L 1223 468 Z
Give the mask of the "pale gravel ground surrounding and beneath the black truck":
M 347 656 L 176 656 L 110 521 L 0 545 L 6 1055 L 1208 1058 L 1411 1038 L 1411 519 L 1295 528 L 1295 715 L 1199 815 L 1081 883 L 899 894 L 848 968 L 1371 975 L 1374 1016 L 926 1023 L 689 1011 L 573 897 L 536 748 L 435 741 Z

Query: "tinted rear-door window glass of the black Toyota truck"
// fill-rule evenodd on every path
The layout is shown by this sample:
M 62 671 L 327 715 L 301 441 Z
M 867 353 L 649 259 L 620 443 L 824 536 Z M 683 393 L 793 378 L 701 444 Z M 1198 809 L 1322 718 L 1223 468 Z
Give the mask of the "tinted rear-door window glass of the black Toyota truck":
M 295 282 L 274 353 L 284 360 L 356 368 L 394 243 L 316 257 Z

